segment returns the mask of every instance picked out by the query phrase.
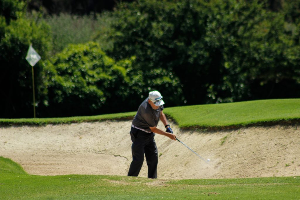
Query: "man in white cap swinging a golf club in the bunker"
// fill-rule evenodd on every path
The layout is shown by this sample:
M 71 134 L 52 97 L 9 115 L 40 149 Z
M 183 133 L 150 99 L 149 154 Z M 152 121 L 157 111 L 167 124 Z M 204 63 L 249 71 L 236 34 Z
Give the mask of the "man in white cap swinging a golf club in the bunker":
M 158 91 L 149 92 L 149 97 L 143 101 L 137 110 L 131 125 L 131 151 L 132 162 L 128 176 L 138 176 L 144 162 L 144 154 L 148 165 L 148 178 L 157 178 L 158 151 L 155 144 L 155 133 L 165 135 L 176 140 L 167 118 L 163 113 L 164 101 Z M 161 120 L 166 131 L 158 129 L 158 121 Z

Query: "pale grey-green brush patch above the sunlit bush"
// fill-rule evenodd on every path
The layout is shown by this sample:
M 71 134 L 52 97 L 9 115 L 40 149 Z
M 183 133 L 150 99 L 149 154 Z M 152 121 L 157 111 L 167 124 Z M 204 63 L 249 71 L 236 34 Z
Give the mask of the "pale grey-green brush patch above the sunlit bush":
M 111 46 L 111 42 L 106 38 L 109 25 L 114 19 L 108 13 L 99 14 L 96 17 L 70 14 L 46 15 L 44 20 L 51 26 L 53 38 L 51 55 L 61 52 L 68 44 L 82 44 L 92 40 L 97 41 L 103 50 Z

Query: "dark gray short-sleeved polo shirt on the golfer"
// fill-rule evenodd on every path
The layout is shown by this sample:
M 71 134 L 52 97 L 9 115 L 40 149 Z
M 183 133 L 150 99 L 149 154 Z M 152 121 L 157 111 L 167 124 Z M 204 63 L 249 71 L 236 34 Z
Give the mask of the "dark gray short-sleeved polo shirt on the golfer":
M 162 110 L 164 110 L 164 105 L 161 105 L 157 110 L 154 110 L 148 103 L 148 98 L 146 98 L 137 110 L 137 114 L 135 115 L 132 124 L 140 129 L 151 132 L 149 127 L 158 125 Z

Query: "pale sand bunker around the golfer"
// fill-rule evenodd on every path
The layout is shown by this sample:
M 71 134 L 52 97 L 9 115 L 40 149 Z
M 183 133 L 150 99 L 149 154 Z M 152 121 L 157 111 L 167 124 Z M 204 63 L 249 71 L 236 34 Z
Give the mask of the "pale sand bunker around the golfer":
M 29 174 L 101 174 L 126 176 L 131 163 L 131 121 L 46 126 L 0 127 L 0 156 Z M 158 178 L 244 178 L 300 176 L 300 130 L 297 126 L 249 127 L 155 135 Z M 164 129 L 160 122 L 158 128 Z M 147 177 L 146 160 L 140 177 Z

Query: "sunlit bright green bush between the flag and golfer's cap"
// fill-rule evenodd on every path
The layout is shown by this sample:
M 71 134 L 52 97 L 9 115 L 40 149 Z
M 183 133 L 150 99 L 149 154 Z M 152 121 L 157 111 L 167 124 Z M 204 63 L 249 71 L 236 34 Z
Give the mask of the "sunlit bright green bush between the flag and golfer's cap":
M 137 109 L 148 89 L 179 93 L 177 81 L 164 70 L 147 74 L 132 68 L 134 57 L 115 62 L 97 43 L 69 45 L 45 63 L 47 99 L 40 116 L 74 116 Z M 145 87 L 147 85 L 147 87 Z M 177 90 L 176 90 L 177 89 Z M 133 98 L 134 97 L 134 98 Z M 178 98 L 170 98 L 178 101 Z M 137 104 L 138 102 L 138 104 Z M 172 103 L 171 103 L 172 104 Z

